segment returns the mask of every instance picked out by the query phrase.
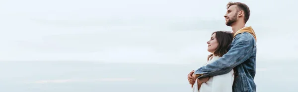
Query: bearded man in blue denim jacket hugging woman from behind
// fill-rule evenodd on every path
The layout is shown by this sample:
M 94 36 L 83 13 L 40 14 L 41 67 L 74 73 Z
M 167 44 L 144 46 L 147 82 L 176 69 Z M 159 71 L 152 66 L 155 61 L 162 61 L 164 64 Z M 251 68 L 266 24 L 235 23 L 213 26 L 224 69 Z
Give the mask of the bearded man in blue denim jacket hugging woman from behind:
M 229 51 L 211 64 L 188 74 L 188 81 L 194 84 L 196 78 L 217 76 L 234 69 L 233 92 L 256 92 L 256 35 L 251 27 L 245 27 L 250 16 L 249 7 L 241 2 L 228 2 L 224 15 L 225 24 L 235 33 Z

